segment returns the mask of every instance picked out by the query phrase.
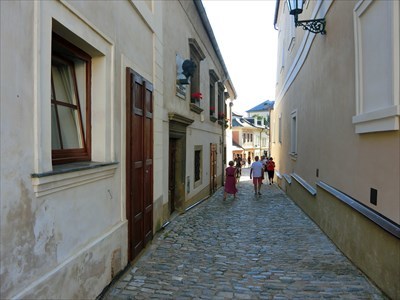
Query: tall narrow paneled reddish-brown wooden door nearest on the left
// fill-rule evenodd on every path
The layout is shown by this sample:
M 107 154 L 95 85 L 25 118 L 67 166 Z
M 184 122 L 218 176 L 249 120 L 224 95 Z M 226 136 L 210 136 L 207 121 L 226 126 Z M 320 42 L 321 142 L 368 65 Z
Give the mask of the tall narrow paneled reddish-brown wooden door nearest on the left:
M 153 86 L 127 68 L 126 193 L 128 257 L 153 237 Z

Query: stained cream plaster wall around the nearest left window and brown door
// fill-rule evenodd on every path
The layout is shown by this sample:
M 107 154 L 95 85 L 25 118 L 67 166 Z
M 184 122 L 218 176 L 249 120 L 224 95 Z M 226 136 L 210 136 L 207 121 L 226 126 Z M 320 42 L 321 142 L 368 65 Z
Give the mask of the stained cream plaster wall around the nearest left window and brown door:
M 127 66 L 155 83 L 155 128 L 162 127 L 162 76 L 154 63 L 162 65 L 155 55 L 160 38 L 154 38 L 162 28 L 159 6 L 151 11 L 152 5 L 140 1 L 0 5 L 1 298 L 94 298 L 127 264 Z M 52 19 L 98 49 L 94 73 L 103 75 L 93 75 L 100 87 L 92 99 L 93 157 L 116 164 L 31 178 L 52 171 L 47 100 Z M 160 144 L 155 169 L 162 162 Z M 161 182 L 155 178 L 154 186 Z

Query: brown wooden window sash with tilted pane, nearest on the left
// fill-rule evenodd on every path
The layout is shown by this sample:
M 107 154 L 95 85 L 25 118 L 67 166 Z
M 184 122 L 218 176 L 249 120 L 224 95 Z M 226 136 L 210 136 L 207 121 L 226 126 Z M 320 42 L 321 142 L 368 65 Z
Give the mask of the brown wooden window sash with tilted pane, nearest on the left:
M 51 146 L 53 164 L 88 161 L 91 57 L 53 33 Z

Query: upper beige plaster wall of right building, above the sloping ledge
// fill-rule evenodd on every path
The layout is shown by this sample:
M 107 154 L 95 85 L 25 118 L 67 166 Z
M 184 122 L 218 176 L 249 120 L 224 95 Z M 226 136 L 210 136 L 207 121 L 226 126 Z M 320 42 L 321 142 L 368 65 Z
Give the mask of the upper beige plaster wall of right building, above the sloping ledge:
M 321 180 L 400 223 L 399 131 L 356 134 L 353 9 L 357 1 L 333 1 L 327 35 L 315 35 L 308 57 L 282 98 L 277 99 L 275 126 L 282 115 L 282 143 L 273 139 L 273 155 L 281 173 L 299 174 L 314 185 Z M 309 10 L 312 10 L 312 2 Z M 302 16 L 302 18 L 306 18 Z M 305 31 L 296 29 L 288 71 Z M 277 95 L 283 88 L 283 74 Z M 297 111 L 298 155 L 290 157 L 290 114 Z M 277 130 L 273 131 L 277 135 Z M 316 170 L 319 176 L 316 176 Z M 378 203 L 370 203 L 370 188 Z

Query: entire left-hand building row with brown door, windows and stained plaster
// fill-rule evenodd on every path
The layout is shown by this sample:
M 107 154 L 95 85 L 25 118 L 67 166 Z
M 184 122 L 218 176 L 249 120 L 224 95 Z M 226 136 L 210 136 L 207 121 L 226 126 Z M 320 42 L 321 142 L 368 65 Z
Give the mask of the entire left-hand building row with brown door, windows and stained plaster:
M 235 89 L 199 1 L 0 8 L 0 295 L 95 298 L 222 184 Z

